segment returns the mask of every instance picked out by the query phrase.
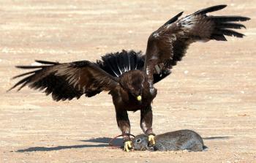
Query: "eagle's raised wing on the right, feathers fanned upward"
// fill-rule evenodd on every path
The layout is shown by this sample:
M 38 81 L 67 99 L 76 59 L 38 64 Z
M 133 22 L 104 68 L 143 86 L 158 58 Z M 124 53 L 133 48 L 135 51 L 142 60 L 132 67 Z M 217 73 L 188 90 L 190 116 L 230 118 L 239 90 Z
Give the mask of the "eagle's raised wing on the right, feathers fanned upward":
M 218 5 L 199 10 L 178 20 L 182 12 L 168 20 L 148 38 L 144 70 L 151 85 L 154 75 L 171 69 L 186 53 L 192 42 L 215 39 L 227 41 L 225 36 L 244 37 L 232 29 L 245 28 L 237 21 L 249 20 L 241 16 L 208 16 L 208 12 L 222 10 L 226 5 Z

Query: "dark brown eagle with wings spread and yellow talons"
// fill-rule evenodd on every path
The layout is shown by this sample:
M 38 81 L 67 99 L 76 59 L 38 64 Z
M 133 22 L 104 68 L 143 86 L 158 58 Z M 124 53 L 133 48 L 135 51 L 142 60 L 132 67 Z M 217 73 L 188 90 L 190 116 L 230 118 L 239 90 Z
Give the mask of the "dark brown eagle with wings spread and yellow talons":
M 24 86 L 51 94 L 53 100 L 79 99 L 108 91 L 116 109 L 116 121 L 124 139 L 124 151 L 132 148 L 127 111 L 140 110 L 140 127 L 148 135 L 148 143 L 154 145 L 151 103 L 157 96 L 154 84 L 170 75 L 170 69 L 185 55 L 193 42 L 211 39 L 227 41 L 229 37 L 244 37 L 233 29 L 245 29 L 239 21 L 243 16 L 213 16 L 208 12 L 222 10 L 227 5 L 217 5 L 198 10 L 180 18 L 178 13 L 148 37 L 146 53 L 122 50 L 107 53 L 101 60 L 59 63 L 36 60 L 39 66 L 17 66 L 31 71 L 17 75 L 22 77 L 11 89 Z M 9 91 L 10 91 L 9 90 Z

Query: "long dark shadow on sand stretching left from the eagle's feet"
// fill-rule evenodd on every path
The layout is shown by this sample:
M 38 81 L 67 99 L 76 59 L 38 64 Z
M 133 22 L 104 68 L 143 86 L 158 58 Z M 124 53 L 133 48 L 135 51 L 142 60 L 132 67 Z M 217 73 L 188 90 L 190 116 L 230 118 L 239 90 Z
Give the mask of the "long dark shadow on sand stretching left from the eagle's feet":
M 31 147 L 26 149 L 20 149 L 16 152 L 33 152 L 33 151 L 57 151 L 62 149 L 70 149 L 70 148 L 96 148 L 96 147 L 107 147 L 109 141 L 112 138 L 110 137 L 97 137 L 92 138 L 89 140 L 80 140 L 82 142 L 89 142 L 89 143 L 100 143 L 100 144 L 93 144 L 93 145 L 67 145 L 67 146 L 56 146 L 56 147 Z M 113 140 L 113 145 L 121 146 L 123 144 L 122 139 Z

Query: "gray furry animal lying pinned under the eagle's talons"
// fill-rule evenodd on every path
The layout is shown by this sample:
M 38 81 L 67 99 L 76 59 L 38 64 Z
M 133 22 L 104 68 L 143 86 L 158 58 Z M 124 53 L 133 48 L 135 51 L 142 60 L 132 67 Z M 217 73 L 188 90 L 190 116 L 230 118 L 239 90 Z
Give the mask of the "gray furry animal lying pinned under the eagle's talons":
M 148 146 L 148 136 L 138 134 L 133 140 L 132 145 L 136 151 L 203 151 L 207 147 L 203 145 L 203 139 L 197 132 L 189 129 L 178 130 L 158 134 L 155 137 L 155 145 Z

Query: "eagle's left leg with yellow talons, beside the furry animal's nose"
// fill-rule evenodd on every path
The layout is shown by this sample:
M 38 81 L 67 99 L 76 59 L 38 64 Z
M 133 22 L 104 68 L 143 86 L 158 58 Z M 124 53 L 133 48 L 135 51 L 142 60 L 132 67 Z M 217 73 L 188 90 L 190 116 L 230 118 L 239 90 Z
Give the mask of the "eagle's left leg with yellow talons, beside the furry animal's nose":
M 129 151 L 132 148 L 132 141 L 129 137 L 130 124 L 126 110 L 116 109 L 116 121 L 118 128 L 121 129 L 124 139 L 124 151 Z

